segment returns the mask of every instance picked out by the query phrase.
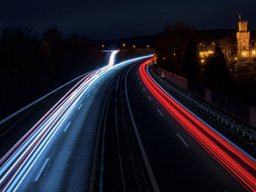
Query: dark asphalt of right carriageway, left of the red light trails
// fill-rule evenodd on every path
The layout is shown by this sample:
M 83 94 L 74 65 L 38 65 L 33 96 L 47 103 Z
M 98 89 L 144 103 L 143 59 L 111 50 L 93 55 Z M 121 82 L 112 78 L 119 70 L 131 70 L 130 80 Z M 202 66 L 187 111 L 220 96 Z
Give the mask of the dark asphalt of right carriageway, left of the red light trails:
M 129 100 L 159 190 L 247 191 L 170 115 L 140 76 L 139 66 L 128 74 Z

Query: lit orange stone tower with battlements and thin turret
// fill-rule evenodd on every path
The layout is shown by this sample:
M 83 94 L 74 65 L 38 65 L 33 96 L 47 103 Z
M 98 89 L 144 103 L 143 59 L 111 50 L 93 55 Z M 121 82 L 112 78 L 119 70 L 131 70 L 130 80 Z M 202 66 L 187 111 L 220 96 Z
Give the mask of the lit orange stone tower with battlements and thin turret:
M 247 31 L 246 20 L 241 20 L 241 15 L 239 14 L 239 31 L 236 33 L 237 45 L 238 45 L 238 57 L 249 57 L 249 31 Z

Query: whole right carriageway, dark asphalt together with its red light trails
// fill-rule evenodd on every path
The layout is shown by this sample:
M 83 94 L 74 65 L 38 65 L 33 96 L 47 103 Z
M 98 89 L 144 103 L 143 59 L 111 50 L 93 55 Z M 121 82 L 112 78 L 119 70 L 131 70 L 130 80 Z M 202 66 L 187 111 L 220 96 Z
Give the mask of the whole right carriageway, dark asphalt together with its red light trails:
M 256 190 L 255 159 L 232 146 L 231 154 L 229 143 L 223 146 L 227 142 L 198 138 L 202 133 L 193 130 L 196 124 L 171 108 L 146 62 L 132 68 L 127 81 L 132 114 L 160 191 Z

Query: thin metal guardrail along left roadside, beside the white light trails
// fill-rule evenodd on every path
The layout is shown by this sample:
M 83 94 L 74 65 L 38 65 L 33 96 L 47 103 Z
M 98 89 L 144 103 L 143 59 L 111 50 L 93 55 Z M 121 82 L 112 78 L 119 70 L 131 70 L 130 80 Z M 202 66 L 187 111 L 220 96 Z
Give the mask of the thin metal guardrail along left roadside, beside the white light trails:
M 93 72 L 93 71 L 91 71 L 91 72 Z M 46 97 L 50 96 L 51 94 L 55 93 L 56 91 L 59 91 L 61 88 L 64 88 L 66 85 L 69 85 L 71 82 L 74 82 L 75 80 L 78 80 L 80 77 L 83 77 L 89 73 L 90 72 L 86 72 L 85 74 L 81 74 L 79 77 L 75 77 L 75 79 L 65 83 L 64 85 L 61 85 L 59 88 L 56 88 L 53 91 L 50 91 L 50 93 L 46 94 L 45 96 L 42 96 L 41 98 L 37 99 L 36 101 L 32 102 L 31 104 L 28 104 L 27 106 L 23 107 L 22 109 L 18 110 L 17 112 L 12 113 L 12 115 L 9 115 L 7 118 L 4 118 L 3 120 L 0 121 L 0 126 L 1 126 L 1 124 L 7 122 L 7 120 L 10 120 L 11 118 L 14 118 L 16 115 L 20 114 L 20 112 L 23 112 L 24 110 L 28 109 L 29 107 L 33 106 L 34 104 L 37 104 L 39 101 L 42 101 L 42 99 L 45 99 Z

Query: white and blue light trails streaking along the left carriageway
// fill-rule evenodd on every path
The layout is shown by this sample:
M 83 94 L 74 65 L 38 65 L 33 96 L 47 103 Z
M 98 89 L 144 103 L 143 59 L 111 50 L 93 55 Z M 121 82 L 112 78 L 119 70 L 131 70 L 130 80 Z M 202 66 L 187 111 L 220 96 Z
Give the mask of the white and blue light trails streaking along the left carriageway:
M 132 62 L 152 56 L 146 55 L 114 65 L 117 53 L 118 51 L 116 50 L 111 51 L 107 66 L 94 70 L 87 74 L 86 77 L 83 77 L 1 158 L 0 191 L 17 190 L 20 183 L 23 182 L 29 173 L 29 170 L 45 150 L 45 147 L 48 146 L 51 139 L 53 139 L 62 126 L 64 120 L 69 117 L 70 112 L 78 104 L 82 96 L 89 92 L 89 88 L 94 82 L 99 82 L 100 78 L 110 74 L 114 69 L 119 69 Z M 82 105 L 80 104 L 80 106 Z

